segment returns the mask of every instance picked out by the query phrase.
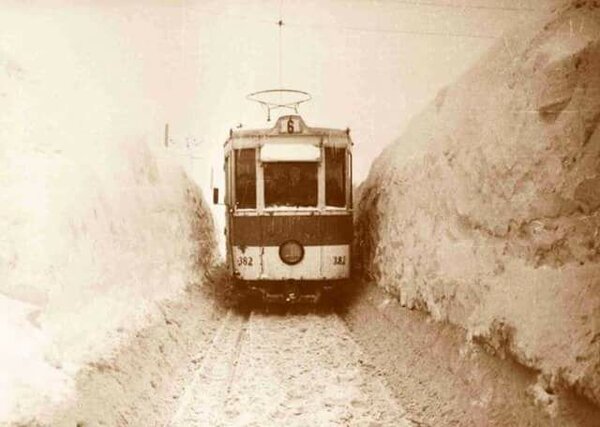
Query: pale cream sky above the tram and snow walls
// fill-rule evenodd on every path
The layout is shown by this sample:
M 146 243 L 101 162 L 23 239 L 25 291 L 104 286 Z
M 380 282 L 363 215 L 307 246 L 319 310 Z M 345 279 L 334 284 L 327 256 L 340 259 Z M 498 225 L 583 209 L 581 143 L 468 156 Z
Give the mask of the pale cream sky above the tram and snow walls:
M 229 129 L 273 124 L 246 95 L 307 91 L 312 100 L 300 114 L 309 126 L 351 129 L 358 183 L 439 89 L 548 3 L 8 2 L 0 54 L 45 88 L 39 102 L 61 137 L 77 134 L 85 145 L 102 143 L 86 134 L 143 134 L 161 142 L 168 123 L 172 151 L 205 194 Z

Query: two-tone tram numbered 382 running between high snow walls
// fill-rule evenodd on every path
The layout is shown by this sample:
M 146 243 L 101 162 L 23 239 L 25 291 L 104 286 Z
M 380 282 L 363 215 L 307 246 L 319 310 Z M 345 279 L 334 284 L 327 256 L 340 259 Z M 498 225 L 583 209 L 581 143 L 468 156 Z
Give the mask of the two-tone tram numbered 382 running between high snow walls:
M 224 144 L 229 272 L 266 301 L 318 301 L 348 286 L 352 229 L 349 129 L 297 114 Z

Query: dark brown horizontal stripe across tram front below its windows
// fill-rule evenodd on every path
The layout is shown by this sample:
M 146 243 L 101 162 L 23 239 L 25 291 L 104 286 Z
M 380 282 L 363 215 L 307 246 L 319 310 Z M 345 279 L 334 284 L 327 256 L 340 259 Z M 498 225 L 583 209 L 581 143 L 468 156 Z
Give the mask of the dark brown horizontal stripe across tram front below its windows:
M 232 216 L 235 246 L 279 246 L 297 240 L 304 246 L 352 243 L 352 215 Z

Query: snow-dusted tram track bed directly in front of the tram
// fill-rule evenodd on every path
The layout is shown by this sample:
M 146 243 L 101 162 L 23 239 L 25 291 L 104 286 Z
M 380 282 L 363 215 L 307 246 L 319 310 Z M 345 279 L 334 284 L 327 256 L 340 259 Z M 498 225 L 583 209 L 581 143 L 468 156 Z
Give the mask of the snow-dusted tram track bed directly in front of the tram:
M 410 426 L 345 323 L 229 311 L 167 426 Z

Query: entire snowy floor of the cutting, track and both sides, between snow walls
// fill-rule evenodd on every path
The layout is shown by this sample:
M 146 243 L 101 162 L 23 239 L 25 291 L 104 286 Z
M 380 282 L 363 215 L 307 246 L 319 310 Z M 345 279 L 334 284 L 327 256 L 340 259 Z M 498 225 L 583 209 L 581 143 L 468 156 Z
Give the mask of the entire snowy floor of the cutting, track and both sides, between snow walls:
M 225 308 L 224 284 L 211 275 L 162 303 L 156 322 L 80 372 L 78 399 L 42 425 L 587 427 L 600 416 L 374 286 L 336 309 Z

